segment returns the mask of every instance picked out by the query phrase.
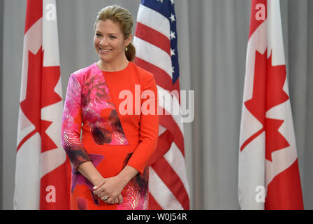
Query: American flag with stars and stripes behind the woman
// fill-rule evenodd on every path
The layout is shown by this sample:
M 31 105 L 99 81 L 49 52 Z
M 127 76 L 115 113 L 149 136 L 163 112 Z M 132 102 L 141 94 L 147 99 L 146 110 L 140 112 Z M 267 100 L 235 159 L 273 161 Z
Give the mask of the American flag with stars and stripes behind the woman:
M 159 92 L 159 141 L 152 156 L 149 209 L 189 209 L 180 111 L 176 16 L 173 0 L 142 0 L 138 9 L 135 63 L 154 74 Z M 172 94 L 171 94 L 172 93 Z

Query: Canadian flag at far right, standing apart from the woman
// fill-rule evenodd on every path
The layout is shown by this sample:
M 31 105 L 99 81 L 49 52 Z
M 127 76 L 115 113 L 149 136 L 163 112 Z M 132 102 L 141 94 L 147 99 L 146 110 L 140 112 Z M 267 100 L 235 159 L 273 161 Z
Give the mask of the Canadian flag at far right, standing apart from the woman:
M 303 209 L 279 0 L 252 0 L 238 174 L 241 209 Z

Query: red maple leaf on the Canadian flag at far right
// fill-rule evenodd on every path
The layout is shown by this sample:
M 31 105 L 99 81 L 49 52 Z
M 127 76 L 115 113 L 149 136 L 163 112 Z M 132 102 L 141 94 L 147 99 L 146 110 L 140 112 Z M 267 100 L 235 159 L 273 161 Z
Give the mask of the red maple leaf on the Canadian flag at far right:
M 263 127 L 252 134 L 252 137 L 242 144 L 240 150 L 242 151 L 249 142 L 265 131 L 265 158 L 272 161 L 272 152 L 286 148 L 289 143 L 278 130 L 284 120 L 265 118 L 265 113 L 274 106 L 286 102 L 289 96 L 283 90 L 286 66 L 272 66 L 272 53 L 268 59 L 266 55 L 267 50 L 264 54 L 256 51 L 252 99 L 245 102 L 248 111 L 262 123 Z

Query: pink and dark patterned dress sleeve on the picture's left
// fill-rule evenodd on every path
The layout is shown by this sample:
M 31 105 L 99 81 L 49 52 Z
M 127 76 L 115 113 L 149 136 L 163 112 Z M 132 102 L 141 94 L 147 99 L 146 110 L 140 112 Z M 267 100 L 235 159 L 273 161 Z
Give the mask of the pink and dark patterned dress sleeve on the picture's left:
M 74 74 L 72 74 L 68 80 L 66 90 L 61 142 L 75 169 L 77 169 L 82 162 L 90 160 L 87 151 L 80 141 L 82 127 L 81 90 L 82 86 Z

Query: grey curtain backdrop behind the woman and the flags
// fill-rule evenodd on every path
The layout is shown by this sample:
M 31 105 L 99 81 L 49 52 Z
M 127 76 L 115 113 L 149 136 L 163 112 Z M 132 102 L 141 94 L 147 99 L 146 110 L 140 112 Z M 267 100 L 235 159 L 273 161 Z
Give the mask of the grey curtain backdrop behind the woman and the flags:
M 70 74 L 96 61 L 93 25 L 110 4 L 136 20 L 140 0 L 57 0 L 63 95 Z M 195 90 L 184 124 L 191 209 L 239 209 L 238 142 L 250 0 L 176 0 L 180 83 Z M 0 2 L 0 200 L 13 209 L 26 0 Z M 286 69 L 305 209 L 313 209 L 313 1 L 281 0 Z

